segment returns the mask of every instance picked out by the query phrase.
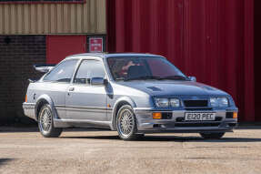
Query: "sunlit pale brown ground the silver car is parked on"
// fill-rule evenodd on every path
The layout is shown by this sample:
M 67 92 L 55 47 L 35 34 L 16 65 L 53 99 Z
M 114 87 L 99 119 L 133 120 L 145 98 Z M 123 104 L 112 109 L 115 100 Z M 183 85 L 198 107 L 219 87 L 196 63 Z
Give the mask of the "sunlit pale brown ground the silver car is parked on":
M 113 131 L 65 131 L 60 138 L 0 131 L 0 173 L 261 173 L 261 127 L 220 140 L 154 134 L 123 141 Z

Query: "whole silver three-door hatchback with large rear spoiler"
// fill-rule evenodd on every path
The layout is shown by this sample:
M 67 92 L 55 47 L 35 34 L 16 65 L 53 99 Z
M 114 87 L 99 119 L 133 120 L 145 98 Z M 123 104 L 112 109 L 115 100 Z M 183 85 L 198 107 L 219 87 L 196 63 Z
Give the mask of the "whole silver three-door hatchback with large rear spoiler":
M 80 54 L 35 68 L 45 75 L 31 81 L 23 107 L 45 138 L 62 128 L 109 128 L 124 140 L 164 132 L 222 138 L 237 124 L 231 96 L 163 56 Z

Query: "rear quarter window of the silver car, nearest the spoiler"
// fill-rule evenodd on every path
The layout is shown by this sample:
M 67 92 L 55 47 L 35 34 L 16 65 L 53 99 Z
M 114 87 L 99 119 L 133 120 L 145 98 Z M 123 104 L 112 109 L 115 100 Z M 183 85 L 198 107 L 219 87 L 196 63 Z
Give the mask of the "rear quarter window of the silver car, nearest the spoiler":
M 44 81 L 70 83 L 78 60 L 65 60 L 44 77 Z

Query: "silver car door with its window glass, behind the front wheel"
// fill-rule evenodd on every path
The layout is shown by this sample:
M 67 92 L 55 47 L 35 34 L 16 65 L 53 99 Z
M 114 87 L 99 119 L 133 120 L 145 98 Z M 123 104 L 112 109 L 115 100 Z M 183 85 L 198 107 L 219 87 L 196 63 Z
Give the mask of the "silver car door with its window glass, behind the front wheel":
M 104 77 L 102 61 L 83 59 L 65 97 L 66 116 L 73 120 L 106 121 L 105 86 L 92 86 L 92 77 Z

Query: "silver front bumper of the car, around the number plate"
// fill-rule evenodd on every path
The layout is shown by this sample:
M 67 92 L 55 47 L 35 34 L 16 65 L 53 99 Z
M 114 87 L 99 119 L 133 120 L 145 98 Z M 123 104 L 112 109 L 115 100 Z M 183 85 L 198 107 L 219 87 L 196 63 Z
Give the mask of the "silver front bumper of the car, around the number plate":
M 171 112 L 172 118 L 153 119 L 154 112 Z M 216 120 L 213 121 L 185 121 L 185 113 L 193 110 L 156 110 L 153 108 L 135 108 L 138 132 L 162 133 L 162 132 L 228 132 L 236 128 L 237 118 L 227 118 L 226 112 L 237 112 L 235 109 L 195 110 L 195 112 L 215 112 Z

